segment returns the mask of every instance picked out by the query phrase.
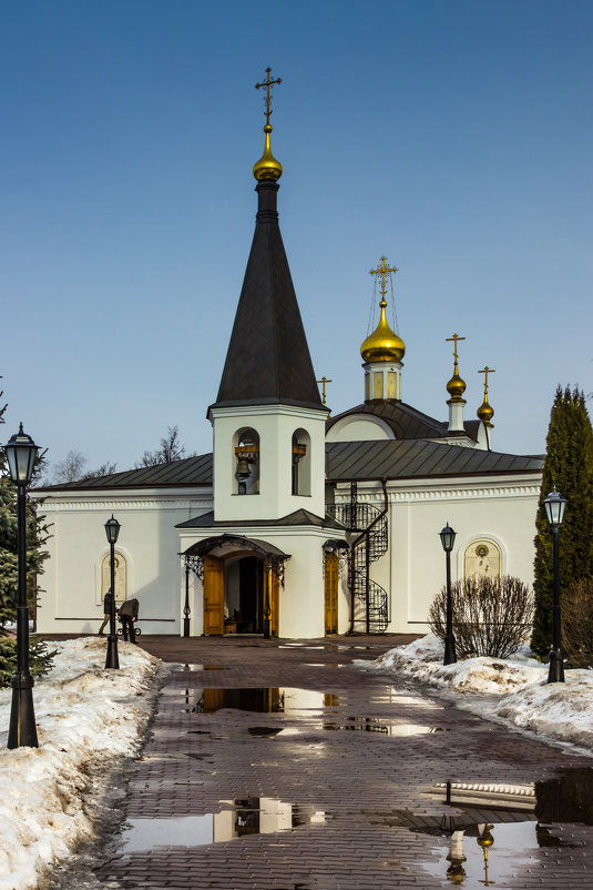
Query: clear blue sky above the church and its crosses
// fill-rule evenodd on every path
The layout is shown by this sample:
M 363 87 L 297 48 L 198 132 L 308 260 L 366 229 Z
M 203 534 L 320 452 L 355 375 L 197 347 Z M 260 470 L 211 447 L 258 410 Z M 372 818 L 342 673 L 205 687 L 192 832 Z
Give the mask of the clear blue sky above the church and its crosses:
M 318 376 L 362 401 L 385 254 L 403 401 L 544 449 L 558 383 L 593 390 L 591 2 L 6 2 L 4 439 L 125 469 L 177 424 L 211 449 L 253 235 L 272 65 L 283 236 Z

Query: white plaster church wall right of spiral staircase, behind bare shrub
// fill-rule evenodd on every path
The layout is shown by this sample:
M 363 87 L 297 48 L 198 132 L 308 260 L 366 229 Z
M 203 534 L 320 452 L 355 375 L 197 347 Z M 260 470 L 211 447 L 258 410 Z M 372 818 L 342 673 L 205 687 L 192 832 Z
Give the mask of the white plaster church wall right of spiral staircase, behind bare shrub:
M 463 555 L 477 539 L 501 552 L 501 574 L 533 583 L 535 513 L 540 474 L 458 478 L 421 483 L 390 482 L 389 550 L 371 564 L 370 577 L 389 595 L 390 633 L 423 633 L 434 595 L 446 583 L 446 556 L 439 532 L 457 532 L 451 578 L 463 577 Z M 349 497 L 347 486 L 342 489 Z M 359 484 L 360 499 L 382 506 L 377 484 Z M 338 495 L 339 498 L 339 495 Z M 341 627 L 340 627 L 341 630 Z

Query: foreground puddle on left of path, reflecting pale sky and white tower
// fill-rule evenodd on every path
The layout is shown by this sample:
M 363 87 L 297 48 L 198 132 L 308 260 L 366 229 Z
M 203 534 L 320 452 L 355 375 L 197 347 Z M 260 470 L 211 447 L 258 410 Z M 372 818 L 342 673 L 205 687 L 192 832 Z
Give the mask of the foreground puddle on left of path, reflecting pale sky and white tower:
M 127 820 L 122 832 L 123 854 L 159 847 L 202 847 L 246 835 L 272 835 L 325 823 L 325 812 L 309 805 L 257 797 L 218 802 L 217 812 L 204 816 Z

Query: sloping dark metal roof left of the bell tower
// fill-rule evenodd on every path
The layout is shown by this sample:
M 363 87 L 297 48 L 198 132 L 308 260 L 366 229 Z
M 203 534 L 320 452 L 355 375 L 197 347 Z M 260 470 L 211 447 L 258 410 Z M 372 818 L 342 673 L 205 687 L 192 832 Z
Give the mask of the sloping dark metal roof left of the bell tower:
M 170 464 L 126 469 L 122 473 L 110 473 L 109 476 L 99 476 L 79 482 L 68 482 L 61 485 L 47 485 L 38 490 L 55 492 L 88 488 L 164 488 L 192 487 L 195 485 L 212 485 L 213 463 L 212 454 L 201 454 L 196 457 L 185 457 L 172 461 Z

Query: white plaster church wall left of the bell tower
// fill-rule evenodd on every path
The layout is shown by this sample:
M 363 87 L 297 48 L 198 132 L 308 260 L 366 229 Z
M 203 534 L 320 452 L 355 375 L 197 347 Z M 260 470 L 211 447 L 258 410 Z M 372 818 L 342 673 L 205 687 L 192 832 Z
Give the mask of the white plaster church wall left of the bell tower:
M 42 512 L 52 524 L 50 559 L 40 576 L 38 628 L 41 633 L 96 633 L 102 620 L 100 565 L 109 552 L 104 524 L 121 523 L 116 552 L 127 566 L 126 596 L 140 601 L 144 633 L 180 633 L 180 557 L 176 523 L 212 508 L 212 496 L 195 492 L 58 493 Z M 184 583 L 184 579 L 183 579 Z

